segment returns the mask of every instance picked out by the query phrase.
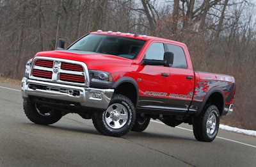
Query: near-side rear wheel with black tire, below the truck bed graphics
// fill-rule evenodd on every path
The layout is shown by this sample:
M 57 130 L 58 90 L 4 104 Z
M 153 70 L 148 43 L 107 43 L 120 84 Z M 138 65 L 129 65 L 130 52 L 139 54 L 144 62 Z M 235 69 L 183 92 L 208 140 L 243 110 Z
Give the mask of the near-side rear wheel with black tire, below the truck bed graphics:
M 218 107 L 205 107 L 193 123 L 194 136 L 198 141 L 211 142 L 218 134 L 220 113 Z

